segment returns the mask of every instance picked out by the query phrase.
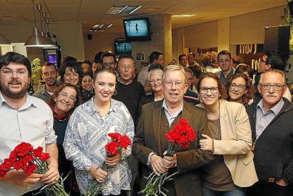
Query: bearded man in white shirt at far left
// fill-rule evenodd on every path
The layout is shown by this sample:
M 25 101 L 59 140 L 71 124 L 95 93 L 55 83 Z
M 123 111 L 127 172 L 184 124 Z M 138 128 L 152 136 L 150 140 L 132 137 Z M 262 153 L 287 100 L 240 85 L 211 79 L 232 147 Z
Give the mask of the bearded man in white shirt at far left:
M 45 175 L 10 170 L 0 178 L 0 195 L 23 195 L 59 179 L 58 150 L 49 106 L 26 93 L 32 68 L 28 58 L 16 52 L 0 57 L 0 164 L 21 142 L 43 147 L 50 154 Z M 41 183 L 40 183 L 41 182 Z

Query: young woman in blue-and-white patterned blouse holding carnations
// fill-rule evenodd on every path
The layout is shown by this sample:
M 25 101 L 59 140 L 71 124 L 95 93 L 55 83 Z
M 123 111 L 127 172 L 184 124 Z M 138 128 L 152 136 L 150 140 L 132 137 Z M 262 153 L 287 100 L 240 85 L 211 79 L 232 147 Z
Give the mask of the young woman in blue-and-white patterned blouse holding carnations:
M 131 171 L 128 150 L 114 157 L 105 157 L 105 145 L 111 141 L 108 133 L 128 135 L 132 140 L 134 124 L 125 105 L 111 99 L 116 75 L 110 66 L 101 66 L 94 76 L 94 97 L 79 106 L 68 123 L 63 147 L 66 158 L 73 161 L 81 194 L 85 194 L 94 180 L 105 183 L 102 195 L 127 195 Z M 105 162 L 110 172 L 101 169 Z

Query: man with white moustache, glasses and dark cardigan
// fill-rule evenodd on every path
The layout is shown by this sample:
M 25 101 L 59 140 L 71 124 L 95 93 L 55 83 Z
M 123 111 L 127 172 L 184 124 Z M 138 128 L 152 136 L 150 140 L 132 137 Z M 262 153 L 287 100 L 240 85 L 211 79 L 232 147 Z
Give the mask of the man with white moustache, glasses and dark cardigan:
M 282 96 L 285 75 L 267 70 L 257 86 L 261 97 L 247 107 L 254 142 L 254 166 L 259 182 L 247 195 L 293 194 L 293 104 Z

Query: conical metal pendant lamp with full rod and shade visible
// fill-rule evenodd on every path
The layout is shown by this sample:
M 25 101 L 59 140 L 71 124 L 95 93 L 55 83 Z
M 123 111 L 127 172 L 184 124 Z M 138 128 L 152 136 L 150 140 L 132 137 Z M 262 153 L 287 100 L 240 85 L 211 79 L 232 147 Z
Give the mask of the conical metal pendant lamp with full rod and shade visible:
M 32 10 L 34 12 L 34 0 L 32 0 Z M 32 30 L 32 35 L 26 40 L 24 43 L 26 47 L 51 47 L 54 46 L 54 43 L 47 39 L 46 37 L 42 37 L 39 29 L 37 28 L 36 17 L 34 14 L 34 28 Z

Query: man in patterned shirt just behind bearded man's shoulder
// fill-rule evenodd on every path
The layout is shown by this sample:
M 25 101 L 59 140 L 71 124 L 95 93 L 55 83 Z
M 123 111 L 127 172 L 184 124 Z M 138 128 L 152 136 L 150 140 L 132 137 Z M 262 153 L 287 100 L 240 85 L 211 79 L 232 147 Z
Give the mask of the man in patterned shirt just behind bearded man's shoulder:
M 34 93 L 34 97 L 47 101 L 53 95 L 54 90 L 57 88 L 57 68 L 54 64 L 46 62 L 41 69 L 41 76 L 46 84 L 41 85 L 41 88 Z

